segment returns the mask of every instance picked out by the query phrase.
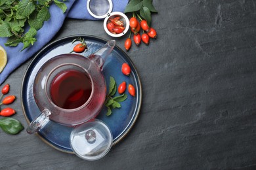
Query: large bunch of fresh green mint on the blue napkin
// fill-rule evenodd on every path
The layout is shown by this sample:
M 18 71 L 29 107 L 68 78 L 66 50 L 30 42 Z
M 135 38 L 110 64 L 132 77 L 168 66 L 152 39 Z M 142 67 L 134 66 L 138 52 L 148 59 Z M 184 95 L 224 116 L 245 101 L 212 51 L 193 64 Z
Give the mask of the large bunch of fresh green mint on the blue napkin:
M 24 44 L 22 50 L 33 45 L 37 31 L 51 14 L 49 7 L 58 6 L 66 12 L 66 0 L 2 0 L 0 1 L 0 37 L 7 37 L 5 46 Z M 28 31 L 25 32 L 25 27 Z

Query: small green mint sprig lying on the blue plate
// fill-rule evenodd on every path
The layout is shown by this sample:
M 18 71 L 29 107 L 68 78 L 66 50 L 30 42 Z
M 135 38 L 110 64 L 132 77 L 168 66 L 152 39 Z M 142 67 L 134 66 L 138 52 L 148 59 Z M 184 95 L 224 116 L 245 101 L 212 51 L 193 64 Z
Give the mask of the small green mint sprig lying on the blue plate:
M 110 76 L 110 86 L 108 90 L 108 95 L 106 96 L 106 101 L 104 103 L 104 105 L 108 109 L 106 116 L 110 116 L 112 114 L 112 109 L 121 107 L 121 104 L 119 102 L 125 101 L 127 99 L 127 94 L 125 93 L 114 97 L 114 95 L 116 94 L 116 90 L 116 80 L 112 76 Z

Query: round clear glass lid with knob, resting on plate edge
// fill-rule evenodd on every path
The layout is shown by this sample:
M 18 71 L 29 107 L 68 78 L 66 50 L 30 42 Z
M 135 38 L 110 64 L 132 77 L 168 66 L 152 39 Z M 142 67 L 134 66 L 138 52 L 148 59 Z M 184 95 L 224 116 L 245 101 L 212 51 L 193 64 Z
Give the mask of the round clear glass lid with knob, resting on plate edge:
M 93 161 L 104 157 L 110 150 L 112 141 L 109 127 L 97 119 L 76 126 L 70 134 L 72 150 L 83 160 Z

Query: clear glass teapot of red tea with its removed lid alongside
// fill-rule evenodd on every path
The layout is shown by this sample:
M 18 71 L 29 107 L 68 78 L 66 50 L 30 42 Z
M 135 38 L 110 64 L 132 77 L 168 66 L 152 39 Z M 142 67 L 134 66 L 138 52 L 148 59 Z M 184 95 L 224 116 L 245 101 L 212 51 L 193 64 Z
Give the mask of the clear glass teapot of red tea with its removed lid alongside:
M 60 54 L 41 66 L 33 83 L 35 103 L 41 114 L 27 127 L 28 133 L 39 131 L 52 120 L 75 127 L 70 144 L 80 158 L 97 160 L 108 152 L 112 133 L 104 122 L 94 118 L 106 98 L 102 67 L 115 44 L 114 40 L 108 41 L 87 58 L 79 54 Z M 92 148 L 85 149 L 81 143 Z M 92 152 L 95 149 L 98 150 Z

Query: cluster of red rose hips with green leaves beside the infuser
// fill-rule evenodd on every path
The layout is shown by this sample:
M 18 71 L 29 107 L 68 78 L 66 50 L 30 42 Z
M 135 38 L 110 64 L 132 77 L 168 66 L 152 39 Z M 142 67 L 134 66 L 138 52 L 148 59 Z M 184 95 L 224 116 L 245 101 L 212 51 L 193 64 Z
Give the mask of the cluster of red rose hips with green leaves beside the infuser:
M 131 0 L 125 8 L 125 13 L 132 12 L 133 16 L 129 20 L 129 27 L 131 32 L 129 37 L 125 40 L 125 50 L 129 51 L 131 48 L 131 33 L 133 33 L 133 41 L 137 46 L 140 42 L 149 44 L 150 38 L 156 39 L 156 29 L 150 27 L 152 12 L 158 12 L 153 5 L 153 0 Z M 142 35 L 140 35 L 142 29 Z

